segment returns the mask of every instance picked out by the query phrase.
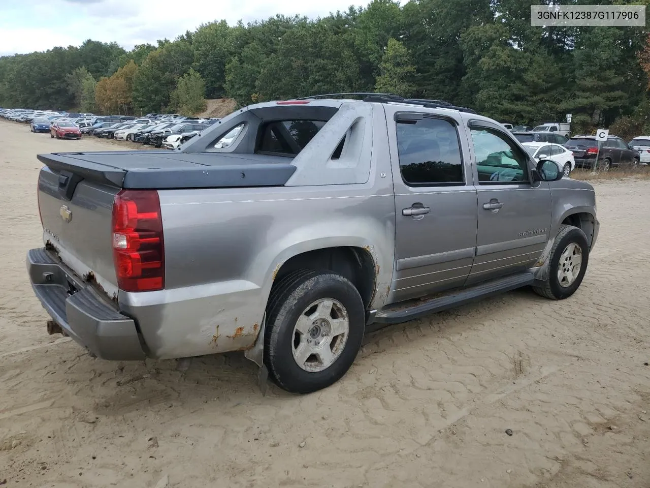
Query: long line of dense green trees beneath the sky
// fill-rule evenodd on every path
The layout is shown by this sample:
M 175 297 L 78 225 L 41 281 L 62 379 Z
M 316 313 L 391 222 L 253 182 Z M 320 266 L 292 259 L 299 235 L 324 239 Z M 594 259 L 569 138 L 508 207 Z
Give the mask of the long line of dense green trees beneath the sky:
M 550 1 L 372 0 L 318 20 L 205 23 L 131 51 L 86 40 L 0 57 L 0 106 L 196 113 L 205 97 L 246 105 L 378 91 L 447 100 L 515 124 L 572 113 L 574 132 L 645 129 L 648 30 L 532 27 L 530 5 Z

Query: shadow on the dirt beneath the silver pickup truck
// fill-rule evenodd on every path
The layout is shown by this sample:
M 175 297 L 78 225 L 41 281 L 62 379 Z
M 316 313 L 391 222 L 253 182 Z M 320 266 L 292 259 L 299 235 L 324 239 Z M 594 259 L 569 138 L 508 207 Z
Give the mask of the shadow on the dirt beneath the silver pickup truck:
M 423 343 L 441 342 L 459 334 L 480 335 L 480 327 L 484 327 L 489 320 L 495 320 L 495 316 L 510 316 L 509 310 L 527 308 L 527 304 L 533 305 L 538 299 L 531 291 L 515 290 L 426 318 L 369 331 L 350 372 L 330 388 L 341 388 L 348 382 L 357 381 L 355 370 L 368 369 L 370 361 L 381 362 L 381 353 L 408 355 L 415 353 Z M 88 357 L 83 364 L 89 366 L 87 363 L 90 361 L 93 360 Z M 303 397 L 289 394 L 270 381 L 263 396 L 257 381 L 257 365 L 246 359 L 243 353 L 196 357 L 184 372 L 177 370 L 175 360 L 112 365 L 112 362 L 94 363 L 95 368 L 103 370 L 90 380 L 103 380 L 104 388 L 98 388 L 98 397 L 94 398 L 93 411 L 98 416 L 181 406 L 183 410 L 191 411 L 214 402 L 218 403 L 219 409 L 227 410 L 239 405 L 250 408 L 274 400 L 299 401 Z M 83 379 L 80 378 L 80 381 Z

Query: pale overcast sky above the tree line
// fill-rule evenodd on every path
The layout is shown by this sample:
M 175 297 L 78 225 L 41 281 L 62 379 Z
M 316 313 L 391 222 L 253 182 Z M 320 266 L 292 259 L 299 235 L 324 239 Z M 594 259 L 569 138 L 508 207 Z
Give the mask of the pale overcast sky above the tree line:
M 275 14 L 310 18 L 367 5 L 360 0 L 0 0 L 0 55 L 79 46 L 91 38 L 125 49 L 173 40 L 201 23 L 230 25 Z

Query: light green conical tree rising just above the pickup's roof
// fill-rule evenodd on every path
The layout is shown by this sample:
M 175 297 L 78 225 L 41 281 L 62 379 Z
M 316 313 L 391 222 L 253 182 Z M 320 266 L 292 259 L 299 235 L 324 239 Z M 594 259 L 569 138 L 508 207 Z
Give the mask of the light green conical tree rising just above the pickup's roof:
M 375 89 L 378 92 L 393 93 L 401 96 L 413 96 L 415 85 L 412 83 L 415 64 L 409 50 L 404 44 L 390 38 L 380 63 L 381 74 L 377 77 Z

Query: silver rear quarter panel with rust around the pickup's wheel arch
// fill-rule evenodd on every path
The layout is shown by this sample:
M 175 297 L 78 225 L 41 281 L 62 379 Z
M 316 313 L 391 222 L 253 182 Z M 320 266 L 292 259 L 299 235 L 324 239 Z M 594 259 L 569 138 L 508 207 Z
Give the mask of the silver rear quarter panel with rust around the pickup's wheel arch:
M 315 249 L 370 252 L 371 308 L 382 306 L 393 275 L 395 198 L 385 117 L 374 130 L 367 183 L 159 191 L 165 290 L 118 297 L 138 320 L 149 355 L 249 349 L 281 265 Z

